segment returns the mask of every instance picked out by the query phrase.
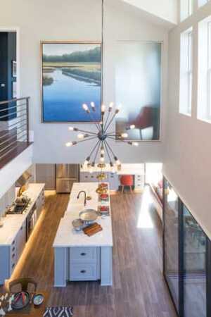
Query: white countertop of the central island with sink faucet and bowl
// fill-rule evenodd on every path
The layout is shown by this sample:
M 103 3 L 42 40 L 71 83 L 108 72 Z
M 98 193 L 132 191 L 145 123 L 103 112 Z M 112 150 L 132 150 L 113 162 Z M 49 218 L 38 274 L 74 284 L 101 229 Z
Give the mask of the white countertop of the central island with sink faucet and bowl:
M 98 202 L 97 187 L 98 182 L 79 182 L 73 185 L 68 209 L 60 220 L 53 247 L 113 247 L 111 216 L 106 216 L 105 218 L 99 216 L 97 218 L 96 222 L 101 225 L 103 230 L 92 237 L 85 235 L 83 231 L 76 232 L 72 226 L 72 220 L 79 218 L 79 211 L 89 208 L 97 210 L 98 206 L 101 205 Z M 79 201 L 76 199 L 80 190 L 84 190 L 87 192 L 87 196 L 92 198 L 91 201 L 87 201 L 87 206 L 85 207 L 83 194 L 81 194 Z M 110 206 L 110 201 L 104 204 Z

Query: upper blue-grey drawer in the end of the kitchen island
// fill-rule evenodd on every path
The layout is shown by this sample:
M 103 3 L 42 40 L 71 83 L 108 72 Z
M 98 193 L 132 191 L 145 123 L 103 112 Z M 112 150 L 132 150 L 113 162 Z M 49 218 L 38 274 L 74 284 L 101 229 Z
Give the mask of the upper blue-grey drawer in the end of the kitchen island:
M 96 262 L 97 248 L 70 248 L 70 263 Z

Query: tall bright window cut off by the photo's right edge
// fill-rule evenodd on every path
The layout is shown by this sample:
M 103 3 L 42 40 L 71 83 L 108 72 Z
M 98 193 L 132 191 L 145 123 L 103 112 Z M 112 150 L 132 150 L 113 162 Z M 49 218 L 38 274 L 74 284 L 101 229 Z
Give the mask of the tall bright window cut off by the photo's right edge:
M 198 118 L 211 121 L 211 17 L 198 25 Z

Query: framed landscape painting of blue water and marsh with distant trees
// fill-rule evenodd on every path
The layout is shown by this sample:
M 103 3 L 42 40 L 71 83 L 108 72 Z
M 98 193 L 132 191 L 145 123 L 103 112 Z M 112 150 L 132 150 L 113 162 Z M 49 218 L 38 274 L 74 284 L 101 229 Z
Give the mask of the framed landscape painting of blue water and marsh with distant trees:
M 101 60 L 99 42 L 41 42 L 42 122 L 101 121 Z

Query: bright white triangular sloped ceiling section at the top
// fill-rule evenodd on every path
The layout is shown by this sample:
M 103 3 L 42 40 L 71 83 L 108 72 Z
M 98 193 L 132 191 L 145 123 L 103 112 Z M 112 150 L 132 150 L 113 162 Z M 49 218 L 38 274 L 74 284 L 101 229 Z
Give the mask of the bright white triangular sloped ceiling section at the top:
M 123 0 L 144 11 L 157 15 L 158 17 L 177 24 L 177 0 Z

